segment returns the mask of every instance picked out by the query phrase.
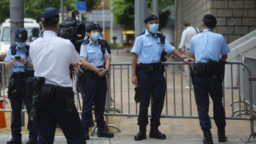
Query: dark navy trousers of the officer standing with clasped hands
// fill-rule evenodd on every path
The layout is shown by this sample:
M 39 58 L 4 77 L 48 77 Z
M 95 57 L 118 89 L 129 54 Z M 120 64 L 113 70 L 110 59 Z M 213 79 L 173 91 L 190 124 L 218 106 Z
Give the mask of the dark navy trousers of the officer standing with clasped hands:
M 82 105 L 82 126 L 86 130 L 92 125 L 92 105 L 98 128 L 104 128 L 104 111 L 107 94 L 105 76 L 86 76 Z

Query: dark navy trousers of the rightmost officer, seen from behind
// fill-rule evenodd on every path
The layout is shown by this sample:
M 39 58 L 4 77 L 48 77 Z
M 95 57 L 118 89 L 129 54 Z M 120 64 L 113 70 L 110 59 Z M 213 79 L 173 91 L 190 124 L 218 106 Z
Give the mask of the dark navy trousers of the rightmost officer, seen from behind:
M 211 129 L 209 95 L 213 101 L 213 118 L 217 127 L 226 126 L 225 109 L 222 104 L 222 79 L 210 75 L 194 75 L 194 94 L 202 130 Z

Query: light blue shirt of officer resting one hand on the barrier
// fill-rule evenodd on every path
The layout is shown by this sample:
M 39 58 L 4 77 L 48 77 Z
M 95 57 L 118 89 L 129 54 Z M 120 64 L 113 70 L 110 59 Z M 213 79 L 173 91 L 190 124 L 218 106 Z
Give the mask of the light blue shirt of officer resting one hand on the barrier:
M 174 49 L 167 40 L 163 45 L 156 34 L 152 36 L 148 30 L 145 30 L 145 33 L 137 36 L 131 52 L 139 55 L 138 63 L 159 63 L 162 51 L 170 54 Z

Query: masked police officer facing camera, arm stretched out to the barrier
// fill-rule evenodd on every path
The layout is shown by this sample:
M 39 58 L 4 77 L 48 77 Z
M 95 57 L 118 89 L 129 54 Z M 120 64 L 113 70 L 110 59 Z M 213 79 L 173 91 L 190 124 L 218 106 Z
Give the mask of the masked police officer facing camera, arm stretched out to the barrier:
M 189 62 L 193 59 L 182 57 L 162 34 L 158 31 L 159 22 L 155 15 L 149 15 L 144 20 L 146 30 L 137 36 L 135 44 L 132 48 L 132 83 L 138 86 L 138 95 L 140 100 L 139 117 L 137 124 L 139 125 L 139 133 L 135 136 L 135 140 L 146 139 L 146 126 L 148 125 L 148 107 L 152 94 L 151 109 L 151 130 L 149 137 L 156 139 L 166 139 L 166 136 L 159 132 L 160 116 L 164 106 L 165 97 L 165 77 L 164 66 L 160 63 L 162 51 L 167 54 L 173 53 L 183 62 Z M 138 63 L 138 64 L 137 64 Z

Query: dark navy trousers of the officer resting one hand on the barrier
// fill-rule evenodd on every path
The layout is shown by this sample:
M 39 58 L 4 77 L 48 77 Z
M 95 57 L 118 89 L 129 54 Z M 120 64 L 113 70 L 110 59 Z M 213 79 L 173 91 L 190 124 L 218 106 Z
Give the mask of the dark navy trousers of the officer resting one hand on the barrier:
M 139 126 L 148 125 L 148 107 L 152 95 L 151 105 L 151 127 L 160 126 L 160 116 L 164 107 L 166 82 L 164 75 L 158 70 L 145 73 L 144 70 L 137 71 L 138 92 L 139 92 Z

